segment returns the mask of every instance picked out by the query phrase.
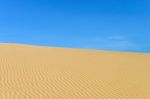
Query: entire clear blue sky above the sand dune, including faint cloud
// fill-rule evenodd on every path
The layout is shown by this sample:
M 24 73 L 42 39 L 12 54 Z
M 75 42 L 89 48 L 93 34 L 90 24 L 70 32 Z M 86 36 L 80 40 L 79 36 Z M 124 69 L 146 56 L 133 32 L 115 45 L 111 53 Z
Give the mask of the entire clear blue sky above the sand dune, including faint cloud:
M 0 42 L 150 52 L 150 0 L 0 0 Z

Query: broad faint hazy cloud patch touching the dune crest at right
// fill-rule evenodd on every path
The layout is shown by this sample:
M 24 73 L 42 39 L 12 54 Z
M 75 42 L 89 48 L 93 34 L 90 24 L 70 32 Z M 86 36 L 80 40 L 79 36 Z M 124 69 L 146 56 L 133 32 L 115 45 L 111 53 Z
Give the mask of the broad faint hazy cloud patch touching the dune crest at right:
M 85 48 L 120 51 L 135 51 L 140 49 L 140 46 L 128 37 L 120 35 L 94 37 L 89 41 L 87 46 L 84 46 Z

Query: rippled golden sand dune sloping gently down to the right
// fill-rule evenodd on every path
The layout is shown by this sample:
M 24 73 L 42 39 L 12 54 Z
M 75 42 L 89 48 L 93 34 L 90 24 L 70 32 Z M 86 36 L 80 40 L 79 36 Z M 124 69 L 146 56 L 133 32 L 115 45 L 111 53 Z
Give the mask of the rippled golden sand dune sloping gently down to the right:
M 0 44 L 0 99 L 150 99 L 150 54 Z

